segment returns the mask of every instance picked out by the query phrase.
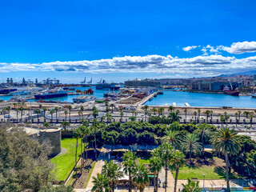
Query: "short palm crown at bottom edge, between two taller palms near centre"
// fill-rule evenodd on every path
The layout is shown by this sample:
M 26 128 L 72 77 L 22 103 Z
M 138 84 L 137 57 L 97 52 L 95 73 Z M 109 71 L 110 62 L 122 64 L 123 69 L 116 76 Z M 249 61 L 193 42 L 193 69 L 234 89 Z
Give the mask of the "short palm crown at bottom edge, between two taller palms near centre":
M 146 184 L 150 182 L 148 170 L 143 164 L 138 164 L 135 166 L 133 175 L 133 182 L 135 183 L 135 186 L 140 192 L 143 192 Z

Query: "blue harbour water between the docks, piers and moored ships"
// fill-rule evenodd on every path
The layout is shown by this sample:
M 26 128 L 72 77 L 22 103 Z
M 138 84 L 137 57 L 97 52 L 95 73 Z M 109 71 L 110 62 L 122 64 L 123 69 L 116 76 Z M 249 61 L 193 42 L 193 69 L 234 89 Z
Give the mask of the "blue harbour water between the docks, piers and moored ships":
M 108 90 L 96 90 L 95 86 L 91 87 L 74 87 L 76 90 L 94 90 L 94 97 L 103 98 L 103 94 Z M 0 96 L 2 100 L 10 100 L 12 96 Z M 61 98 L 47 98 L 45 100 L 60 101 L 60 102 L 73 102 L 73 98 L 78 95 L 68 95 Z M 38 101 L 38 100 L 31 100 Z M 232 106 L 232 107 L 245 107 L 256 108 L 256 98 L 250 96 L 230 96 L 227 94 L 206 94 L 206 93 L 190 93 L 182 91 L 163 91 L 163 94 L 158 94 L 151 101 L 144 103 L 149 106 L 185 106 L 187 102 L 190 106 Z

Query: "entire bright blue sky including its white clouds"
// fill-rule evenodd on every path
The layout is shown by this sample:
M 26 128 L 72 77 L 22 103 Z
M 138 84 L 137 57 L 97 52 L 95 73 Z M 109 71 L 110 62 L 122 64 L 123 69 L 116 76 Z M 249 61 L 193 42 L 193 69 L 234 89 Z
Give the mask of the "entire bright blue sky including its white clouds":
M 2 0 L 0 82 L 122 82 L 256 70 L 255 6 L 246 0 Z

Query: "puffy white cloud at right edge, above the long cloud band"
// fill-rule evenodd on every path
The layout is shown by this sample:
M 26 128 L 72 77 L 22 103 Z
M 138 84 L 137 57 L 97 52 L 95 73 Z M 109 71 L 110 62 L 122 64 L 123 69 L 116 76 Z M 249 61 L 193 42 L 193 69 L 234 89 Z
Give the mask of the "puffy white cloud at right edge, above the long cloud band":
M 256 42 L 234 42 L 230 47 L 218 46 L 218 48 L 230 54 L 253 53 L 256 52 Z

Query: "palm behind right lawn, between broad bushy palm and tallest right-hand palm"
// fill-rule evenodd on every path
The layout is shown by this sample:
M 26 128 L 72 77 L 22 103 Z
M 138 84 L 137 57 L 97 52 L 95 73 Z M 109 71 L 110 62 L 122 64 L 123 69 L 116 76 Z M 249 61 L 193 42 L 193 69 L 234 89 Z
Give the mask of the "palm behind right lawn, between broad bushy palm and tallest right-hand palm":
M 198 124 L 198 129 L 194 130 L 194 133 L 198 135 L 200 138 L 200 142 L 202 142 L 202 155 L 204 154 L 204 144 L 207 140 L 209 140 L 212 135 L 211 128 L 208 124 Z

